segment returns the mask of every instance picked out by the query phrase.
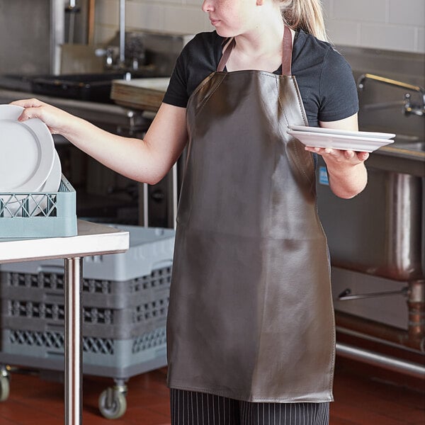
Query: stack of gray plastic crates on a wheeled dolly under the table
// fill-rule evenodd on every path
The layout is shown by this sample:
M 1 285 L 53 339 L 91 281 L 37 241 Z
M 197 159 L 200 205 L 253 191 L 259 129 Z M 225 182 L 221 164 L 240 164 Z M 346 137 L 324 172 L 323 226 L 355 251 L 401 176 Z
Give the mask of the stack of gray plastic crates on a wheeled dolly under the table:
M 123 254 L 85 257 L 83 372 L 127 379 L 166 365 L 166 311 L 174 230 L 130 232 Z M 64 356 L 63 261 L 2 264 L 0 363 L 60 369 Z

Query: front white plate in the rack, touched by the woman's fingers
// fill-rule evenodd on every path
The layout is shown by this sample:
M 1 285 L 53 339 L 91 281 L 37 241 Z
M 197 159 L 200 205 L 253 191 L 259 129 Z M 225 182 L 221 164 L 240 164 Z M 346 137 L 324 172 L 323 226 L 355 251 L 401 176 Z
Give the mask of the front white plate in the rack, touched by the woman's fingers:
M 38 118 L 17 119 L 23 108 L 0 108 L 0 191 L 36 192 L 53 166 L 55 145 L 47 125 Z

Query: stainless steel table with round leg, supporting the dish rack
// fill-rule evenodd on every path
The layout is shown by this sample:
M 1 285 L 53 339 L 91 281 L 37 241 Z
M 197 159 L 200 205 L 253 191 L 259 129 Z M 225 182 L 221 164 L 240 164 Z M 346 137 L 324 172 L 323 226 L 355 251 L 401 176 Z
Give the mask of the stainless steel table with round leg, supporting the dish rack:
M 84 256 L 115 254 L 128 249 L 128 232 L 78 221 L 74 237 L 0 239 L 0 263 L 64 259 L 65 283 L 65 424 L 81 424 L 81 280 Z

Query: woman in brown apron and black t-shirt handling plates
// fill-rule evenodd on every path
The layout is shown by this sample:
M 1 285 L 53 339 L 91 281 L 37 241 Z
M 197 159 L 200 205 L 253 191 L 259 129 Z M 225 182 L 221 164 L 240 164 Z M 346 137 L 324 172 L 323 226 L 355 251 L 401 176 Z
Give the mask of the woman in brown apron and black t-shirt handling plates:
M 327 424 L 334 316 L 311 152 L 341 198 L 365 187 L 368 154 L 304 148 L 287 130 L 357 130 L 351 69 L 318 39 L 319 0 L 202 7 L 216 31 L 186 45 L 143 141 L 35 99 L 16 102 L 20 119 L 147 183 L 188 140 L 167 322 L 173 424 Z

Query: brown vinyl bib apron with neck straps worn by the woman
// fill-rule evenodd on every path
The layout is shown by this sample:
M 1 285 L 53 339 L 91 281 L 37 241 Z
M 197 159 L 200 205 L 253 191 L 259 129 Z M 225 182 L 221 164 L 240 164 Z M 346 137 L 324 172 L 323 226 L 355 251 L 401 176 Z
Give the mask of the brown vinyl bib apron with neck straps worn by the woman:
M 187 106 L 167 319 L 168 384 L 248 402 L 328 402 L 334 313 L 314 162 L 285 29 L 283 75 L 217 72 Z M 289 59 L 288 59 L 289 58 Z

